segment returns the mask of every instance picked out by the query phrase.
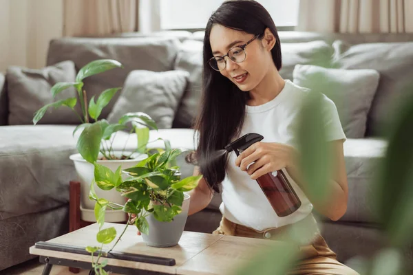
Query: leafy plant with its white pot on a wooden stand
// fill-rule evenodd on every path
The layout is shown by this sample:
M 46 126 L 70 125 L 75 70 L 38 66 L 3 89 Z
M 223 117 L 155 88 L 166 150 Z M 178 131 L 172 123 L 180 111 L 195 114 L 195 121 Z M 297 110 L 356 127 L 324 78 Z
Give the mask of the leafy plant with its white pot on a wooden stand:
M 94 182 L 94 163 L 107 166 L 110 170 L 120 173 L 121 168 L 129 168 L 136 165 L 140 160 L 147 157 L 147 143 L 149 140 L 149 128 L 157 129 L 155 122 L 146 113 L 126 113 L 118 123 L 110 124 L 105 119 L 99 119 L 103 108 L 112 100 L 114 95 L 121 89 L 120 87 L 111 88 L 103 91 L 97 100 L 94 96 L 87 102 L 87 93 L 83 89 L 83 80 L 89 76 L 94 76 L 109 69 L 123 67 L 118 61 L 102 59 L 92 61 L 82 67 L 76 75 L 74 83 L 56 83 L 52 87 L 52 95 L 55 97 L 69 87 L 74 87 L 77 91 L 77 98 L 67 98 L 46 104 L 36 111 L 33 123 L 36 124 L 43 118 L 43 115 L 50 108 L 69 107 L 76 113 L 81 124 L 73 131 L 73 135 L 79 130 L 76 148 L 78 153 L 70 156 L 74 161 L 76 172 L 81 181 L 81 212 L 82 219 L 85 221 L 95 221 L 94 203 L 89 201 L 88 195 L 90 184 Z M 81 113 L 76 111 L 76 104 L 80 104 Z M 113 143 L 118 131 L 127 129 L 127 124 L 133 125 L 136 132 L 138 146 L 136 151 L 115 151 Z M 125 141 L 127 142 L 127 140 Z M 125 144 L 126 146 L 126 144 Z M 117 170 L 118 169 L 118 170 Z M 123 197 L 117 192 L 101 192 L 98 190 L 100 197 L 106 197 L 114 203 L 123 203 Z M 108 221 L 125 221 L 125 214 L 121 211 L 112 211 L 108 213 Z

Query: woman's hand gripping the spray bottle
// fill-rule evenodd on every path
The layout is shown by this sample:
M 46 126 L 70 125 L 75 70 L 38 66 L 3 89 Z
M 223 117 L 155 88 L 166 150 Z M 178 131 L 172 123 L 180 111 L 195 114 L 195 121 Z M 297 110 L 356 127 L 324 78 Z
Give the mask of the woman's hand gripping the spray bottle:
M 235 165 L 246 171 L 251 179 L 257 179 L 262 175 L 293 165 L 297 157 L 297 151 L 293 146 L 273 142 L 256 142 L 243 151 Z M 254 164 L 251 164 L 255 162 Z M 251 166 L 247 166 L 251 164 Z

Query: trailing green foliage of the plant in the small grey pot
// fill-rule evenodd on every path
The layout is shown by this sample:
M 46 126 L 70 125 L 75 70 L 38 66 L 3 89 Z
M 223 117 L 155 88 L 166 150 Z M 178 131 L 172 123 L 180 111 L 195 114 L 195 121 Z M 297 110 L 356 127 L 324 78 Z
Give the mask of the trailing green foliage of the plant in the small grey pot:
M 121 170 L 119 167 L 116 172 L 94 163 L 96 185 L 103 190 L 116 189 L 125 197 L 125 201 L 127 200 L 122 206 L 98 198 L 94 184 L 91 184 L 89 199 L 96 201 L 94 213 L 99 225 L 96 239 L 101 245 L 100 248 L 88 246 L 86 250 L 92 254 L 92 267 L 96 274 L 107 274 L 103 270 L 103 267 L 107 265 L 107 260 L 99 263 L 99 259 L 102 255 L 107 256 L 115 248 L 131 222 L 131 214 L 136 215 L 134 225 L 143 234 L 149 234 L 149 224 L 146 218 L 150 214 L 153 214 L 153 217 L 158 221 L 164 222 L 173 221 L 173 218 L 180 214 L 184 192 L 198 186 L 198 182 L 202 178 L 202 175 L 181 178 L 179 167 L 176 166 L 176 157 L 181 153 L 183 152 L 180 149 L 170 149 L 167 146 L 165 150 L 158 150 L 153 154 L 149 153 L 149 157 L 140 161 L 136 166 L 125 170 Z M 123 180 L 123 174 L 126 175 L 125 180 Z M 114 227 L 102 229 L 107 208 L 123 210 L 129 213 L 129 219 L 113 247 L 107 252 L 103 252 L 103 245 L 112 243 L 117 234 Z M 94 261 L 94 256 L 98 256 L 96 261 Z

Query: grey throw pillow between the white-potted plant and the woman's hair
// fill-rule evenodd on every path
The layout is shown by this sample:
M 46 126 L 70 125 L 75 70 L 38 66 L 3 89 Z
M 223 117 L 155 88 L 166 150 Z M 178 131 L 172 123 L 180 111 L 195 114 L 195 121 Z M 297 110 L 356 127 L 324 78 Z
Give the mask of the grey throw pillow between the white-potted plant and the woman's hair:
M 178 70 L 130 72 L 107 120 L 116 123 L 125 113 L 141 111 L 150 115 L 159 129 L 171 128 L 188 77 L 188 72 Z

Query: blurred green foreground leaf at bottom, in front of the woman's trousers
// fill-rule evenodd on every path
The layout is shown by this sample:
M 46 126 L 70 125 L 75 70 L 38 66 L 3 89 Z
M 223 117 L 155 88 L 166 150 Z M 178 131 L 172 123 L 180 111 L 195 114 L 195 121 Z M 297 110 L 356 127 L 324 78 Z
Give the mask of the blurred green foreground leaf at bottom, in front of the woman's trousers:
M 270 244 L 272 242 L 268 242 Z M 237 275 L 284 275 L 288 274 L 295 262 L 299 250 L 293 243 L 274 242 L 268 248 L 262 248 L 251 261 L 235 267 Z

